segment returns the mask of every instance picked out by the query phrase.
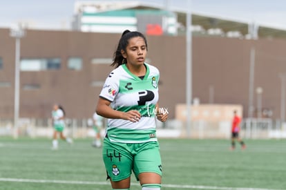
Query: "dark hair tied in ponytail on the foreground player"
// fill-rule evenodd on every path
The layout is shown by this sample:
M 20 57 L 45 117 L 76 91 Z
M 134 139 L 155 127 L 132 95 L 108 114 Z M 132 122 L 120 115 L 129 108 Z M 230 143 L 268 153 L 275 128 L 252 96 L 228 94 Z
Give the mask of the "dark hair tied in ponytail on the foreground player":
M 113 54 L 113 63 L 111 64 L 111 66 L 118 67 L 121 66 L 122 64 L 126 64 L 126 59 L 122 56 L 121 50 L 124 50 L 124 52 L 126 52 L 126 47 L 128 46 L 129 39 L 133 37 L 142 37 L 146 44 L 146 50 L 148 50 L 146 37 L 144 37 L 144 35 L 142 35 L 141 32 L 136 32 L 136 31 L 131 32 L 130 30 L 125 30 L 122 33 L 120 41 L 118 42 L 117 45 L 117 49 Z

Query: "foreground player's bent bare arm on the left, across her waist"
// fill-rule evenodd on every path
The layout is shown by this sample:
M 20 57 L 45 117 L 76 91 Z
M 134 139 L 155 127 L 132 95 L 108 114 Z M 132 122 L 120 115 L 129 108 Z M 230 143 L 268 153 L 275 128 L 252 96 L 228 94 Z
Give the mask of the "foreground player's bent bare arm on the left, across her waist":
M 107 99 L 99 97 L 96 107 L 96 113 L 101 115 L 102 117 L 106 117 L 109 119 L 122 119 L 129 120 L 131 122 L 138 122 L 140 120 L 139 111 L 131 110 L 128 112 L 117 111 L 111 108 L 111 102 Z

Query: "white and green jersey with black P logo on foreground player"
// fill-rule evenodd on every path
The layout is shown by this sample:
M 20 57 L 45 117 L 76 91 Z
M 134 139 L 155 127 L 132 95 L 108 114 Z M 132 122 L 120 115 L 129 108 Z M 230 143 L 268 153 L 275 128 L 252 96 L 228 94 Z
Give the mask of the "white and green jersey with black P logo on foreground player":
M 143 79 L 133 75 L 126 64 L 115 68 L 107 77 L 99 97 L 108 99 L 117 111 L 137 110 L 139 122 L 108 119 L 107 133 L 111 142 L 140 143 L 157 141 L 155 105 L 158 102 L 159 70 L 149 64 Z

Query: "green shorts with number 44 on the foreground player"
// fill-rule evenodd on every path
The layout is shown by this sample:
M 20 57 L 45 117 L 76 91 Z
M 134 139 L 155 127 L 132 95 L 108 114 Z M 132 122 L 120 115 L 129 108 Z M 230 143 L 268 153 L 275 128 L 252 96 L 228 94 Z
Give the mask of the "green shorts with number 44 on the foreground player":
M 144 142 L 137 144 L 126 144 L 110 142 L 104 138 L 102 148 L 103 160 L 106 168 L 107 178 L 112 181 L 124 180 L 135 174 L 143 172 L 158 173 L 162 176 L 162 162 L 158 142 Z

